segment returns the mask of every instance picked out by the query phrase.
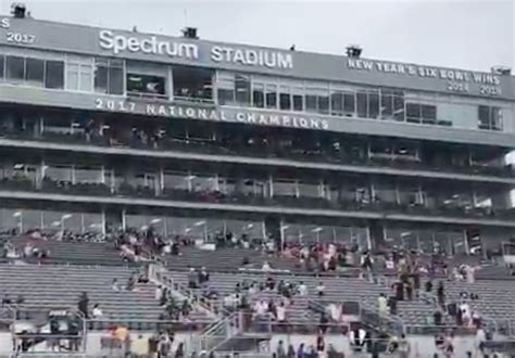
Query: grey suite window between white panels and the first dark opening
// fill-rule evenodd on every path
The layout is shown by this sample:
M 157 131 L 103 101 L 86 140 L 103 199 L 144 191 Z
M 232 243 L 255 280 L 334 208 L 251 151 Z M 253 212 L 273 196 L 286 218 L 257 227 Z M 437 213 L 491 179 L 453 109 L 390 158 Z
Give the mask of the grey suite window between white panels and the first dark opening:
M 124 94 L 123 60 L 97 59 L 95 65 L 95 91 Z

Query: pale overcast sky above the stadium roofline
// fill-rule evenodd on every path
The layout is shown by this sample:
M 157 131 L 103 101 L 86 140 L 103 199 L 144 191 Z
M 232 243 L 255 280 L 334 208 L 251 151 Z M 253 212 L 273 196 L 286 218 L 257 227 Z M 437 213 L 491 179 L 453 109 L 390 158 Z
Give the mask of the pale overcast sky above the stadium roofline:
M 0 0 L 7 14 L 13 0 Z M 23 0 L 22 0 L 23 1 Z M 27 0 L 36 18 L 489 71 L 515 68 L 515 0 Z

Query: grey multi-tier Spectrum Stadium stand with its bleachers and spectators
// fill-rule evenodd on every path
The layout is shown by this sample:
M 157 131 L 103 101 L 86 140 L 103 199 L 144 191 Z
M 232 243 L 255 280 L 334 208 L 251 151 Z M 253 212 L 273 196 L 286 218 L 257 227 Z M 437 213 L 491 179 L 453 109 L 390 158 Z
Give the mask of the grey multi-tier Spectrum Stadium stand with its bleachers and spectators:
M 515 77 L 0 16 L 0 355 L 513 355 Z

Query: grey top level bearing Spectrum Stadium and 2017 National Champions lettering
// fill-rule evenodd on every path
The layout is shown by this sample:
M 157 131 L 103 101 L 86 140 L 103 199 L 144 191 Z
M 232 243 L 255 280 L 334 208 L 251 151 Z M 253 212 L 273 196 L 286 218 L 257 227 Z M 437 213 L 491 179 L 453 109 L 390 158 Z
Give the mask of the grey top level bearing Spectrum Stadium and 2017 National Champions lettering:
M 488 145 L 515 142 L 510 75 L 33 18 L 0 16 L 0 24 L 2 102 Z M 27 60 L 10 65 L 8 56 L 51 64 L 41 62 L 41 84 L 35 84 Z M 17 69 L 23 78 L 9 80 Z M 49 71 L 62 72 L 62 78 L 45 84 Z M 140 85 L 152 81 L 155 95 L 136 88 L 135 76 Z M 198 82 L 186 84 L 192 78 Z M 192 89 L 203 97 L 190 95 Z

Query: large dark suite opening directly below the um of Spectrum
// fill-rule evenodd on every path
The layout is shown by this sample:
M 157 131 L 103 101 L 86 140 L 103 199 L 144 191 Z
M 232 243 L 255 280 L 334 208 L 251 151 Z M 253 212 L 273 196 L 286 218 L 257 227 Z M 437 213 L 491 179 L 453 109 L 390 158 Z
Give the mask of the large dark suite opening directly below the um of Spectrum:
M 175 100 L 213 102 L 213 71 L 199 67 L 174 66 L 173 74 Z M 164 78 L 163 75 L 161 77 Z M 164 92 L 166 93 L 166 90 Z

